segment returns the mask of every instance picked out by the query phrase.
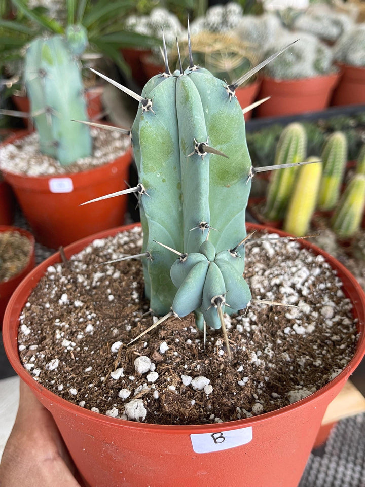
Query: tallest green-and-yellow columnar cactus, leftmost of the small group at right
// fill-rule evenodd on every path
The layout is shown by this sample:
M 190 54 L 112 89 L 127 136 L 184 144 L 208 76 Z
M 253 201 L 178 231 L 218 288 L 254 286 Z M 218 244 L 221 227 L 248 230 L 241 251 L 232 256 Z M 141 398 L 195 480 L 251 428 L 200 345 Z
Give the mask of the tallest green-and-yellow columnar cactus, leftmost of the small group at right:
M 302 162 L 306 152 L 307 135 L 304 126 L 300 123 L 291 123 L 280 135 L 274 165 Z M 297 170 L 298 167 L 290 167 L 272 174 L 264 210 L 268 220 L 284 218 Z

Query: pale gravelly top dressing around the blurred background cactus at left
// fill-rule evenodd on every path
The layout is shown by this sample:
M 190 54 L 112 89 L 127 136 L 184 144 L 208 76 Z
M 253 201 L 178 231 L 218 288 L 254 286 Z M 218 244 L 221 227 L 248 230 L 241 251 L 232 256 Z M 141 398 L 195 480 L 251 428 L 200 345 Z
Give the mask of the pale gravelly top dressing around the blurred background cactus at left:
M 77 122 L 75 122 L 77 123 Z M 112 162 L 130 147 L 127 136 L 118 132 L 91 129 L 93 156 L 61 166 L 53 157 L 41 154 L 38 132 L 0 147 L 0 169 L 28 176 L 48 176 L 86 171 Z

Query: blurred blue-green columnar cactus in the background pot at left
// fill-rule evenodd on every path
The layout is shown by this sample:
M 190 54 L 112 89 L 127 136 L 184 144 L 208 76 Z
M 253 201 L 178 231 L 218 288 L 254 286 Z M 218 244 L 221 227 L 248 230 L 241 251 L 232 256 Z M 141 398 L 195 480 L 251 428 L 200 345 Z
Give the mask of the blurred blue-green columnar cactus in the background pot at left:
M 40 136 L 41 152 L 67 165 L 92 153 L 90 129 L 71 120 L 87 120 L 78 56 L 87 45 L 82 26 L 60 35 L 36 38 L 25 59 L 30 111 Z

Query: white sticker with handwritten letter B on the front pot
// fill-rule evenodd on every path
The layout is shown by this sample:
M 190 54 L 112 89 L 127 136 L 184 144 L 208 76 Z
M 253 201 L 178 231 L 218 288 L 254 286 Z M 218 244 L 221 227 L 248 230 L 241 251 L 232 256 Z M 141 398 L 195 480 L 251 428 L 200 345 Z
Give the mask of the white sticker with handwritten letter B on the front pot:
M 195 453 L 210 453 L 210 451 L 227 450 L 235 446 L 245 445 L 252 440 L 252 427 L 216 433 L 201 433 L 190 435 Z

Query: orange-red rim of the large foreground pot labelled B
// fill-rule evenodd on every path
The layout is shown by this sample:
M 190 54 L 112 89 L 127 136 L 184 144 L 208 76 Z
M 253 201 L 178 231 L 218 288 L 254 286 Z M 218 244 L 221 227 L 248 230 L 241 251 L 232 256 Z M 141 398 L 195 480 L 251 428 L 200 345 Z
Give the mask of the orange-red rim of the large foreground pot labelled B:
M 116 227 L 113 229 L 109 230 L 104 230 L 102 232 L 98 232 L 94 235 L 90 235 L 88 237 L 84 237 L 74 243 L 71 243 L 70 245 L 66 246 L 64 248 L 66 256 L 71 256 L 72 254 L 75 254 L 77 252 L 80 252 L 84 247 L 89 245 L 95 238 L 105 238 L 107 236 L 112 236 L 115 235 L 116 233 L 119 233 L 121 231 L 126 231 L 130 230 L 136 226 L 140 226 L 140 223 L 134 223 L 130 225 L 125 225 L 121 227 Z M 265 227 L 264 225 L 257 225 L 257 224 L 251 224 L 251 223 L 246 223 L 247 229 L 258 229 L 258 230 L 266 230 L 269 233 L 277 233 L 280 236 L 291 236 L 290 234 L 283 232 L 282 230 L 277 230 L 275 228 L 270 228 L 270 227 Z M 355 277 L 346 269 L 345 266 L 343 266 L 340 262 L 338 262 L 334 257 L 332 257 L 330 254 L 327 254 L 325 251 L 320 249 L 319 247 L 313 245 L 312 243 L 308 242 L 307 240 L 299 239 L 299 242 L 301 243 L 301 246 L 307 249 L 310 249 L 314 254 L 318 255 L 321 254 L 325 260 L 331 265 L 332 268 L 335 268 L 339 271 L 340 276 L 344 275 L 346 277 L 346 280 L 348 283 L 351 284 L 352 289 L 351 289 L 351 295 L 355 293 L 355 296 L 351 299 L 352 302 L 358 302 L 362 303 L 361 307 L 361 316 L 357 317 L 357 324 L 361 324 L 362 329 L 359 329 L 359 335 L 358 335 L 358 341 L 356 345 L 356 350 L 354 353 L 354 356 L 350 360 L 350 362 L 346 365 L 346 367 L 338 374 L 334 379 L 332 379 L 330 382 L 328 382 L 325 386 L 322 388 L 318 389 L 318 391 L 310 394 L 309 396 L 293 403 L 289 404 L 287 406 L 284 406 L 280 409 L 276 409 L 274 411 L 270 411 L 264 414 L 260 414 L 258 416 L 253 416 L 252 418 L 245 418 L 241 420 L 236 420 L 236 421 L 228 421 L 224 423 L 219 424 L 219 428 L 221 431 L 227 431 L 227 430 L 235 430 L 238 428 L 246 428 L 249 426 L 254 426 L 255 424 L 264 422 L 264 421 L 269 421 L 271 418 L 285 414 L 286 412 L 289 412 L 292 409 L 297 409 L 297 408 L 304 408 L 307 406 L 308 403 L 312 401 L 316 401 L 316 399 L 319 399 L 321 396 L 323 396 L 327 391 L 332 389 L 333 387 L 337 386 L 337 384 L 344 379 L 347 380 L 348 377 L 351 375 L 352 371 L 356 368 L 356 366 L 360 363 L 363 355 L 365 354 L 365 292 L 362 290 L 360 284 L 357 282 Z M 77 249 L 77 250 L 76 250 Z M 26 299 L 29 296 L 29 293 L 26 293 L 26 299 L 24 301 L 22 294 L 23 294 L 23 289 L 27 287 L 29 281 L 34 281 L 34 286 L 38 284 L 39 279 L 41 275 L 44 274 L 44 271 L 47 269 L 49 265 L 52 265 L 53 263 L 56 262 L 61 262 L 60 258 L 60 253 L 56 252 L 52 254 L 50 257 L 48 257 L 45 261 L 43 261 L 41 264 L 36 266 L 26 277 L 25 279 L 20 283 L 20 285 L 17 287 L 15 292 L 13 293 L 12 297 L 9 300 L 9 304 L 6 308 L 5 311 L 5 316 L 4 316 L 4 321 L 3 321 L 3 342 L 4 342 L 4 347 L 6 354 L 8 356 L 8 359 L 14 368 L 15 372 L 20 376 L 24 382 L 30 386 L 32 389 L 36 389 L 39 394 L 42 394 L 48 401 L 51 403 L 57 403 L 59 407 L 64 407 L 68 409 L 70 412 L 74 412 L 75 415 L 80 416 L 80 419 L 85 418 L 86 420 L 92 420 L 100 424 L 108 424 L 108 425 L 115 425 L 115 426 L 123 426 L 126 428 L 137 428 L 145 430 L 145 431 L 158 431 L 159 433 L 166 433 L 166 434 L 191 434 L 191 433 L 208 433 L 211 431 L 216 431 L 217 429 L 217 424 L 207 424 L 207 425 L 155 425 L 155 424 L 150 424 L 150 423 L 138 423 L 138 422 L 132 422 L 132 421 L 127 421 L 127 420 L 122 420 L 118 418 L 111 418 L 109 416 L 106 416 L 104 414 L 96 413 L 88 409 L 84 409 L 81 406 L 78 406 L 76 404 L 70 403 L 66 401 L 65 399 L 57 396 L 53 392 L 49 391 L 46 389 L 44 386 L 39 384 L 38 382 L 34 381 L 33 377 L 26 372 L 24 367 L 20 363 L 20 359 L 18 356 L 18 347 L 17 347 L 17 336 L 15 339 L 11 336 L 10 334 L 10 328 L 12 323 L 14 322 L 15 317 L 14 312 L 13 312 L 13 307 L 16 306 L 17 304 L 21 303 L 20 309 L 24 306 Z M 42 272 L 42 274 L 41 274 Z M 40 276 L 38 276 L 40 274 Z M 342 277 L 340 277 L 341 281 Z M 345 294 L 347 297 L 349 296 L 349 293 L 346 292 L 346 288 L 344 289 Z M 31 292 L 31 291 L 30 291 Z M 19 320 L 19 314 L 17 314 L 16 318 L 17 322 Z M 17 327 L 18 329 L 18 327 Z M 315 407 L 315 406 L 314 406 Z

